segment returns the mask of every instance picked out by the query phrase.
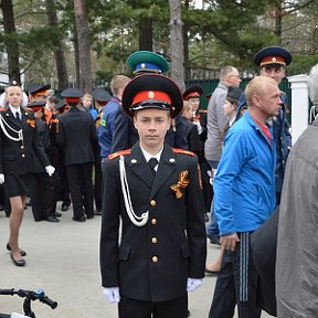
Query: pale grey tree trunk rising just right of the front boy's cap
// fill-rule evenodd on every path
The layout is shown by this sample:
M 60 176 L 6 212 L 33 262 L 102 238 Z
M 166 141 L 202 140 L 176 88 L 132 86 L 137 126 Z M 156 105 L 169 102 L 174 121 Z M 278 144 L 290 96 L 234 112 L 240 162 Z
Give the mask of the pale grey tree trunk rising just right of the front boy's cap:
M 184 52 L 182 39 L 181 0 L 169 0 L 171 78 L 184 91 Z

